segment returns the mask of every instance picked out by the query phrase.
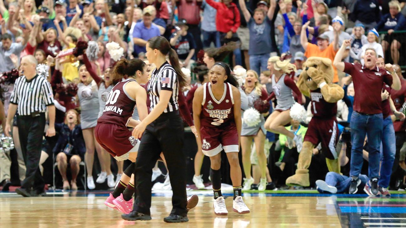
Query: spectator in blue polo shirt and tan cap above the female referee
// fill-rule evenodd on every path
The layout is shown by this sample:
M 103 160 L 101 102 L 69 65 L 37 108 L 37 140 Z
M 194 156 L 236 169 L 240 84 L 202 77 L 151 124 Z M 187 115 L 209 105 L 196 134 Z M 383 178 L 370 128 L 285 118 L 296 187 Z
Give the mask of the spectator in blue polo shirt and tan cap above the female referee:
M 147 7 L 145 8 L 147 9 Z M 133 56 L 138 56 L 141 52 L 147 52 L 145 45 L 152 37 L 160 36 L 159 28 L 152 23 L 152 15 L 148 10 L 143 10 L 143 20 L 134 26 L 132 34 L 134 39 Z

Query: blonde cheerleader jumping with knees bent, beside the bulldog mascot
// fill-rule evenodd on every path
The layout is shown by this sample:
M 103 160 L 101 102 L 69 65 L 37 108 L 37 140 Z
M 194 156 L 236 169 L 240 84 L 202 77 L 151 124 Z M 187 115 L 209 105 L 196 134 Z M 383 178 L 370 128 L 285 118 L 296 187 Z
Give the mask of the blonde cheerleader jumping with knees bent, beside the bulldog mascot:
M 290 108 L 295 103 L 293 92 L 297 95 L 298 103 L 302 103 L 302 93 L 294 80 L 289 77 L 292 71 L 296 71 L 296 66 L 291 64 L 289 59 L 281 61 L 279 56 L 274 56 L 268 60 L 268 69 L 272 74 L 273 92 L 267 101 L 276 98 L 276 107 L 274 112 L 266 119 L 265 128 L 273 133 L 287 136 L 289 149 L 293 148 L 294 141 L 296 148 L 300 151 L 302 149 L 302 136 L 295 135 L 284 127 L 292 120 Z

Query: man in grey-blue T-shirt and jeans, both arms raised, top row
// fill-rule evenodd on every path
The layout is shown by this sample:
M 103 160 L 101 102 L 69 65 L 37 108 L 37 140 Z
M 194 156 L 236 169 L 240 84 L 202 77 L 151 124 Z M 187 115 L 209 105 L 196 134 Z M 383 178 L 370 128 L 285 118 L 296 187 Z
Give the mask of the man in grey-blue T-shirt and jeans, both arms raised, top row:
M 261 74 L 261 71 L 266 71 L 268 59 L 272 52 L 271 37 L 268 35 L 271 32 L 272 17 L 276 8 L 276 2 L 271 1 L 271 6 L 268 12 L 263 9 L 255 9 L 254 16 L 251 17 L 244 0 L 239 0 L 241 11 L 248 24 L 250 30 L 250 67 L 252 70 Z

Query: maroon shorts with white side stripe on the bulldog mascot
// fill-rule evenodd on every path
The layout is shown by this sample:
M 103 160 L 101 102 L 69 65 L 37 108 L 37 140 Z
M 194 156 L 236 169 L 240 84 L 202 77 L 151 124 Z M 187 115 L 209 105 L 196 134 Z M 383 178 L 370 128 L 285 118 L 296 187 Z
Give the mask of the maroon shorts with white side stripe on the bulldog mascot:
M 322 152 L 328 159 L 337 159 L 335 146 L 339 140 L 339 129 L 335 119 L 322 120 L 311 118 L 307 127 L 304 142 L 311 142 L 313 145 L 322 144 Z

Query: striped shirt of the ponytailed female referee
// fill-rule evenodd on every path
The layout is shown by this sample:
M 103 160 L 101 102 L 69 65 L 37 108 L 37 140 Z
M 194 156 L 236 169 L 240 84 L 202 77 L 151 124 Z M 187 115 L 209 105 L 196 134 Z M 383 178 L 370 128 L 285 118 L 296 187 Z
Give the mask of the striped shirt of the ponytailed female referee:
M 164 112 L 173 112 L 178 109 L 179 83 L 175 70 L 168 62 L 165 62 L 159 69 L 152 72 L 148 84 L 149 98 L 151 99 L 151 110 L 158 104 L 161 90 L 171 90 L 172 97 L 169 99 L 168 107 Z

